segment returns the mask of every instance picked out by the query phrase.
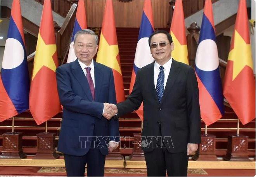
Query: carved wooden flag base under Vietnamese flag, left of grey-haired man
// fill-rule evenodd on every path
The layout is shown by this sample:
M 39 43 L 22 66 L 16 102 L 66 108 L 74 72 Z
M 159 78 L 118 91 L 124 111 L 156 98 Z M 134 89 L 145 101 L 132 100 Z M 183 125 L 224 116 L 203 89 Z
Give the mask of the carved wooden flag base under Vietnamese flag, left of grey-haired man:
M 55 151 L 55 133 L 38 133 L 36 156 L 33 159 L 57 159 Z

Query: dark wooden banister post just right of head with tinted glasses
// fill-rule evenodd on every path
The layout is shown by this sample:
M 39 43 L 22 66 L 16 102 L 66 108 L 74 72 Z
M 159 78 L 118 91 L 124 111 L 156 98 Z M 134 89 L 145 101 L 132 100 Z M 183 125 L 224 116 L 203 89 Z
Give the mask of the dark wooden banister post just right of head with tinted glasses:
M 189 56 L 189 65 L 194 67 L 195 65 L 195 54 L 198 46 L 199 31 L 200 27 L 196 22 L 193 22 L 188 27 L 189 34 L 187 35 L 187 48 Z

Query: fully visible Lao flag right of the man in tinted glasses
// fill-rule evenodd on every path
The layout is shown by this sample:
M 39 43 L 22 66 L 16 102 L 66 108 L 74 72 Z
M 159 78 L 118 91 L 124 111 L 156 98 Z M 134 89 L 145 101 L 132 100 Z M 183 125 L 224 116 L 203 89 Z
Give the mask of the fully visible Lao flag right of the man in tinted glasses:
M 224 114 L 211 0 L 206 0 L 204 5 L 199 44 L 195 57 L 195 74 L 199 87 L 201 117 L 206 125 L 210 125 Z

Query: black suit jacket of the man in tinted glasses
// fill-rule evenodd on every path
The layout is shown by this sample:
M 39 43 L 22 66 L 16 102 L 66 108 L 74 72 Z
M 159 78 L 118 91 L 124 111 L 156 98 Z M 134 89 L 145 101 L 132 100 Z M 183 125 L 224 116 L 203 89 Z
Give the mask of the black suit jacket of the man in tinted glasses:
M 153 150 L 156 139 L 150 139 L 149 136 L 158 136 L 160 124 L 161 135 L 163 138 L 166 137 L 162 140 L 165 145 L 170 146 L 167 148 L 168 151 L 171 153 L 186 151 L 187 143 L 201 142 L 198 94 L 194 69 L 173 60 L 162 101 L 159 104 L 154 86 L 153 62 L 138 70 L 130 96 L 125 102 L 117 104 L 118 117 L 137 110 L 143 101 L 142 140 L 146 140 L 147 143 L 152 140 L 152 143 L 149 146 L 142 146 L 142 150 Z

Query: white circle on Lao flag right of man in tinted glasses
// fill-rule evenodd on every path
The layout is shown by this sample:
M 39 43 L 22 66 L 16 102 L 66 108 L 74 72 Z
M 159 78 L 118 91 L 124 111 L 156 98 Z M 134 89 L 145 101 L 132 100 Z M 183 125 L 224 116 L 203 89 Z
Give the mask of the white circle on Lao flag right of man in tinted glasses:
M 213 71 L 219 66 L 218 49 L 215 41 L 206 39 L 197 47 L 195 65 L 203 71 Z

